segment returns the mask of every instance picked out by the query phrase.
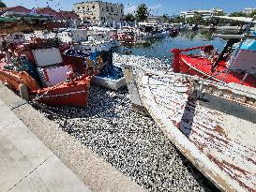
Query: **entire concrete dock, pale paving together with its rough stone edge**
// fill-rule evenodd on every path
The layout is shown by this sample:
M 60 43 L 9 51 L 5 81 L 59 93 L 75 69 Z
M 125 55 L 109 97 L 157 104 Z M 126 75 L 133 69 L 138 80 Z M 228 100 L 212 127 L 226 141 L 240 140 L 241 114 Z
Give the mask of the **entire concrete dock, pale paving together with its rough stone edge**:
M 0 191 L 144 191 L 0 84 Z

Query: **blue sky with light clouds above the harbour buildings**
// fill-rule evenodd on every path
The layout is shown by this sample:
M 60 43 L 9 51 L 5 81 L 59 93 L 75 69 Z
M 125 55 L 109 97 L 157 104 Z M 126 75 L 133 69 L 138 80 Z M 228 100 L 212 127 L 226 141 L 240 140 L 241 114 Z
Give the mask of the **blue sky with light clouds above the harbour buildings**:
M 8 7 L 23 6 L 27 8 L 46 7 L 49 2 L 54 9 L 72 10 L 75 3 L 86 0 L 2 0 Z M 103 0 L 122 3 L 125 13 L 133 12 L 140 4 L 146 4 L 153 15 L 179 15 L 182 10 L 224 8 L 225 12 L 241 11 L 245 7 L 256 7 L 256 0 Z

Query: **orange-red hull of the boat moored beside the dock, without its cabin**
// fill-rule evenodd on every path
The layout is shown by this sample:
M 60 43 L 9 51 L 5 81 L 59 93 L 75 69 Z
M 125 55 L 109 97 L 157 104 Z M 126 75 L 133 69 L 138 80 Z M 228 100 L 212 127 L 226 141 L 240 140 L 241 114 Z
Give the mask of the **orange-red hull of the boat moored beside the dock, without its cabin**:
M 14 91 L 19 91 L 21 84 L 26 85 L 29 97 L 40 103 L 53 106 L 86 107 L 91 76 L 82 75 L 50 87 L 39 88 L 37 81 L 26 72 L 11 71 L 0 67 L 0 81 L 7 83 Z

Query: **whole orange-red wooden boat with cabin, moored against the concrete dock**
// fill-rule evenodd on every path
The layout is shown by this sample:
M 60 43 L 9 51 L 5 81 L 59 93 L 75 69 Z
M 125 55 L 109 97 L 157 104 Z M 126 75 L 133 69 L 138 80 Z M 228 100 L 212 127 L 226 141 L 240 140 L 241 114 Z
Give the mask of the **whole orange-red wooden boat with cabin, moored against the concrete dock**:
M 89 59 L 87 66 L 83 67 L 83 60 L 76 58 L 66 58 L 64 62 L 57 48 L 34 50 L 33 55 L 29 51 L 19 53 L 35 60 L 38 81 L 26 70 L 8 69 L 7 63 L 0 64 L 0 81 L 8 83 L 15 91 L 19 90 L 27 100 L 49 105 L 87 105 L 91 78 L 98 74 L 98 68 L 102 65 L 100 58 L 97 67 Z

